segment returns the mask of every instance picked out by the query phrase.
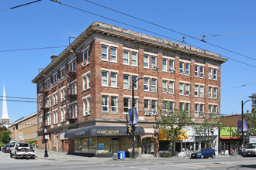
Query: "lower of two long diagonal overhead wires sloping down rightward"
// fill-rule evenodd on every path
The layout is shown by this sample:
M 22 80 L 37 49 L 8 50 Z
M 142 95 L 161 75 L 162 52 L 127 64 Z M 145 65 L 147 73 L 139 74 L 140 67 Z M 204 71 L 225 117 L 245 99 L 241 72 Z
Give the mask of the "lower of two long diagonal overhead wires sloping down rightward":
M 58 4 L 67 6 L 67 7 L 69 7 L 69 8 L 77 9 L 77 10 L 79 10 L 79 11 L 81 11 L 81 12 L 87 12 L 87 13 L 89 13 L 89 14 L 99 16 L 99 17 L 101 17 L 101 18 L 103 18 L 103 19 L 109 19 L 109 20 L 111 20 L 111 21 L 113 21 L 113 22 L 118 22 L 118 23 L 123 24 L 123 25 L 125 25 L 125 26 L 130 26 L 130 27 L 133 27 L 133 28 L 135 28 L 135 29 L 140 29 L 140 30 L 143 30 L 143 31 L 145 31 L 145 32 L 150 32 L 150 33 L 155 34 L 155 35 L 157 35 L 157 36 L 162 36 L 162 37 L 167 38 L 167 39 L 172 39 L 172 40 L 174 40 L 174 41 L 176 41 L 176 42 L 182 42 L 182 41 L 180 41 L 180 40 L 178 40 L 178 39 L 173 39 L 173 38 L 171 38 L 171 37 L 169 37 L 169 36 L 164 36 L 164 35 L 161 35 L 161 34 L 159 34 L 159 33 L 157 33 L 157 32 L 152 32 L 152 31 L 147 30 L 147 29 L 142 29 L 142 28 L 137 27 L 137 26 L 132 26 L 132 25 L 127 24 L 127 23 L 125 23 L 125 22 L 120 22 L 120 21 L 118 21 L 118 20 L 116 20 L 116 19 L 110 19 L 110 18 L 108 18 L 108 17 L 106 17 L 106 16 L 99 15 L 99 14 L 96 14 L 96 13 L 94 13 L 94 12 L 88 12 L 88 11 L 86 11 L 86 10 L 84 10 L 84 9 L 77 8 L 77 7 L 74 7 L 74 6 L 71 6 L 71 5 L 67 5 L 67 4 L 64 4 L 64 3 L 62 3 L 62 2 L 58 2 Z M 198 48 L 198 49 L 202 49 L 202 48 L 200 48 L 199 46 L 195 46 L 195 45 L 189 44 L 189 43 L 187 43 L 187 42 L 186 42 L 186 44 L 188 44 L 189 46 L 193 46 L 193 47 L 195 47 L 195 48 Z M 206 49 L 203 49 L 203 50 L 206 50 Z M 227 59 L 234 60 L 234 61 L 236 61 L 236 62 L 238 62 L 238 63 L 243 63 L 244 65 L 247 65 L 247 66 L 251 66 L 251 67 L 256 68 L 256 66 L 253 66 L 253 65 L 248 64 L 248 63 L 241 62 L 241 61 L 239 61 L 239 60 L 237 60 L 237 59 L 232 59 L 232 58 L 227 57 L 227 56 L 223 56 L 223 57 L 225 57 L 225 58 L 227 58 Z

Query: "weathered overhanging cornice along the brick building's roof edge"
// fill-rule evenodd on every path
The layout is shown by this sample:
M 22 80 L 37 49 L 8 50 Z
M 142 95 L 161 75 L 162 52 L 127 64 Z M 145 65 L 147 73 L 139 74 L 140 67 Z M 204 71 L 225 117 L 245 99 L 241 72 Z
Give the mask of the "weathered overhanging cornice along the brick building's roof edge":
M 177 42 L 171 42 L 166 39 L 160 39 L 154 36 L 147 36 L 145 34 L 130 31 L 128 29 L 123 29 L 118 26 L 112 26 L 103 22 L 93 22 L 91 26 L 89 26 L 87 29 L 85 29 L 84 32 L 78 36 L 77 39 L 74 40 L 74 42 L 71 43 L 70 46 L 67 46 L 64 51 L 57 56 L 54 61 L 52 61 L 41 73 L 39 73 L 33 80 L 33 83 L 37 83 L 40 81 L 44 76 L 47 75 L 47 73 L 50 72 L 51 69 L 53 69 L 57 64 L 61 63 L 63 59 L 65 59 L 67 56 L 70 56 L 71 52 L 70 49 L 78 48 L 78 46 L 81 46 L 83 42 L 85 42 L 85 39 L 88 39 L 88 37 L 92 36 L 92 34 L 102 34 L 106 36 L 112 36 L 116 38 L 121 38 L 124 40 L 132 41 L 134 43 L 141 43 L 148 46 L 157 47 L 160 49 L 167 49 L 178 53 L 184 53 L 191 56 L 199 56 L 204 59 L 212 59 L 219 63 L 225 63 L 228 59 L 224 59 L 220 57 L 220 54 L 213 53 L 210 51 L 206 51 L 203 49 L 197 49 L 192 46 L 185 46 L 183 44 L 177 43 Z

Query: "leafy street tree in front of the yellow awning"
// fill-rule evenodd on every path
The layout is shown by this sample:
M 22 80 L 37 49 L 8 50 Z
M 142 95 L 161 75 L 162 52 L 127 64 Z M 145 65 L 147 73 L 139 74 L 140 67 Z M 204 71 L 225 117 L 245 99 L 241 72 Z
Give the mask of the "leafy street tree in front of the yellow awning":
M 186 125 L 193 124 L 192 117 L 189 116 L 187 110 L 171 110 L 163 114 L 163 110 L 160 109 L 159 113 L 160 117 L 157 119 L 158 129 L 168 135 L 170 141 L 169 155 L 171 156 L 175 138 L 184 133 L 181 130 Z

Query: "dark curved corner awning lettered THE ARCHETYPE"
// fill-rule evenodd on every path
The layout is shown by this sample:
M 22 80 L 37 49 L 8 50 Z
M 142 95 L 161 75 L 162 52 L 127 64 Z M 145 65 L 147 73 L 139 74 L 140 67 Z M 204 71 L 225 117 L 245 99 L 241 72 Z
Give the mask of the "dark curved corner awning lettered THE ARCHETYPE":
M 144 128 L 136 126 L 134 135 L 144 135 Z M 126 126 L 87 126 L 67 131 L 65 138 L 86 138 L 86 137 L 107 137 L 107 136 L 126 136 Z

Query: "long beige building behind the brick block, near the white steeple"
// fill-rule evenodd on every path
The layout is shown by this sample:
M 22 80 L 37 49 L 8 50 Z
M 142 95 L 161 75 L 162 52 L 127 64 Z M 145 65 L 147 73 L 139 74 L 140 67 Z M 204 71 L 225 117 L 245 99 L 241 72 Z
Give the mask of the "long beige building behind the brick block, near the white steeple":
M 37 127 L 37 112 L 35 112 L 13 122 L 8 129 L 12 140 L 32 141 L 37 139 Z

